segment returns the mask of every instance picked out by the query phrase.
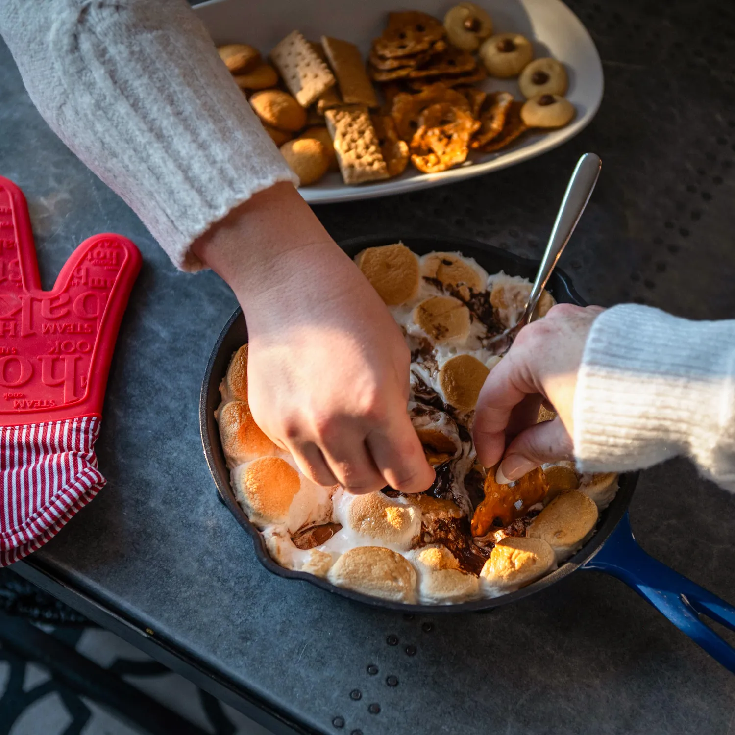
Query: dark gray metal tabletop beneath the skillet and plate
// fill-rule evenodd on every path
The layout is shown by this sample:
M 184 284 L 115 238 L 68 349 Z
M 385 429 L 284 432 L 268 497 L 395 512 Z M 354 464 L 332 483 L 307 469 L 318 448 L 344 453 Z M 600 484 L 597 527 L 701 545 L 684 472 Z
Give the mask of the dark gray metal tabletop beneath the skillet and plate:
M 735 8 L 572 7 L 606 73 L 581 135 L 490 176 L 317 214 L 337 240 L 459 234 L 537 257 L 573 163 L 595 151 L 603 173 L 562 262 L 581 295 L 731 318 Z M 491 614 L 406 617 L 263 569 L 198 435 L 232 293 L 212 273 L 177 273 L 43 123 L 4 46 L 0 69 L 0 173 L 29 199 L 46 287 L 96 232 L 132 238 L 144 257 L 98 442 L 107 487 L 19 573 L 276 731 L 732 735 L 735 679 L 598 573 Z M 631 517 L 648 552 L 735 601 L 733 495 L 675 460 L 643 473 Z

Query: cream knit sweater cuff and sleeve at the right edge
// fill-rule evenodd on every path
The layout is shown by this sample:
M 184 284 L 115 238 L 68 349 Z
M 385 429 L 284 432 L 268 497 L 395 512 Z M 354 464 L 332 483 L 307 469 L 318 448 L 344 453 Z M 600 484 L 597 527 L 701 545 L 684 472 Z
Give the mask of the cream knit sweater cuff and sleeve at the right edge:
M 735 490 L 735 321 L 632 304 L 603 312 L 584 348 L 573 420 L 584 471 L 686 455 Z

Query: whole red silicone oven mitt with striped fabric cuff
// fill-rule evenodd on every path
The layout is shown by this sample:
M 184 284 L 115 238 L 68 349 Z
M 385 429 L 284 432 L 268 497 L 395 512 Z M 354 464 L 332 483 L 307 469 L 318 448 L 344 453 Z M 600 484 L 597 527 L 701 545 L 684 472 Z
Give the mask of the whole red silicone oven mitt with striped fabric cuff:
M 0 567 L 46 543 L 104 486 L 94 443 L 140 262 L 130 240 L 98 234 L 41 290 L 26 200 L 0 176 Z

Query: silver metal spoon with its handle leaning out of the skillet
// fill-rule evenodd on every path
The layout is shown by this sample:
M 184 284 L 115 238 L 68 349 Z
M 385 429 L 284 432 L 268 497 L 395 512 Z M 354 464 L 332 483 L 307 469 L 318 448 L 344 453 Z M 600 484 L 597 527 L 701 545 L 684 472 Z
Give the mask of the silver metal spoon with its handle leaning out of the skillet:
M 492 337 L 487 343 L 487 347 L 507 340 L 508 345 L 505 351 L 508 351 L 513 342 L 513 337 L 532 320 L 551 272 L 556 267 L 556 263 L 559 262 L 559 257 L 569 242 L 569 238 L 572 236 L 582 212 L 584 212 L 584 207 L 587 207 L 589 197 L 592 196 L 592 190 L 595 188 L 598 176 L 600 176 L 601 166 L 600 157 L 594 153 L 586 153 L 578 160 L 572 177 L 569 179 L 569 184 L 567 184 L 567 190 L 564 193 L 559 212 L 556 214 L 556 222 L 553 223 L 551 236 L 548 245 L 546 245 L 544 257 L 541 259 L 541 265 L 539 265 L 539 272 L 536 274 L 534 286 L 531 288 L 531 294 L 528 295 L 526 308 L 523 309 L 523 314 L 520 315 L 517 323 L 501 332 L 501 334 Z

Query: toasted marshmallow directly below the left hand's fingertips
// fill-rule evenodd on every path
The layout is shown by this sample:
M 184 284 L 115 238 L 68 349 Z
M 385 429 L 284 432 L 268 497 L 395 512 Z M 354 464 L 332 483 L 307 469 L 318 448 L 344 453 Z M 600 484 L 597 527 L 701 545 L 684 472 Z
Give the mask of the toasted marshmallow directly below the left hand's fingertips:
M 343 526 L 340 533 L 349 535 L 351 531 L 396 549 L 411 548 L 421 530 L 421 514 L 404 498 L 389 498 L 380 490 L 365 495 L 338 492 L 340 495 L 334 496 L 334 520 Z

